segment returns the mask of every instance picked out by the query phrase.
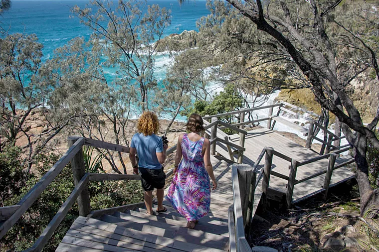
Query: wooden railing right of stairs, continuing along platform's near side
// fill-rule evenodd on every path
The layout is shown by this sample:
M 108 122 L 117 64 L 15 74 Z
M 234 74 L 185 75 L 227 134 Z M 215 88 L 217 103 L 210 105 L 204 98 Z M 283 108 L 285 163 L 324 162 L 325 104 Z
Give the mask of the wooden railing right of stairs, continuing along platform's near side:
M 326 174 L 323 185 L 325 199 L 328 194 L 333 171 L 354 162 L 354 158 L 352 158 L 339 165 L 335 165 L 337 154 L 346 150 L 347 149 L 340 149 L 333 153 L 328 153 L 319 157 L 308 159 L 303 162 L 298 162 L 291 157 L 275 151 L 272 147 L 264 147 L 253 166 L 247 164 L 233 164 L 233 205 L 231 205 L 228 210 L 229 252 L 251 252 L 245 236 L 251 226 L 255 190 L 257 189 L 261 179 L 262 196 L 260 198 L 260 204 L 263 205 L 263 208 L 266 206 L 271 176 L 276 176 L 288 181 L 285 197 L 287 207 L 289 208 L 292 203 L 292 195 L 295 185 L 305 182 L 314 177 Z M 272 160 L 274 155 L 289 161 L 290 171 L 288 176 L 272 170 Z M 263 157 L 265 157 L 264 166 L 258 174 L 257 172 L 260 168 L 259 165 Z M 324 171 L 315 173 L 301 180 L 296 180 L 296 171 L 298 167 L 326 158 L 329 159 L 329 162 L 328 167 Z

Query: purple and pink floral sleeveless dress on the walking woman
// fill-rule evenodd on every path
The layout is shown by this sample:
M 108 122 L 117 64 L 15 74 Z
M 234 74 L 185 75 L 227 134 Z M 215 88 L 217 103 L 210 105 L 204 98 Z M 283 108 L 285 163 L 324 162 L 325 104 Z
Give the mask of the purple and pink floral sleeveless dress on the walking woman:
M 193 142 L 187 134 L 183 135 L 183 159 L 166 196 L 188 221 L 198 220 L 209 212 L 210 182 L 202 156 L 203 143 L 204 138 Z

